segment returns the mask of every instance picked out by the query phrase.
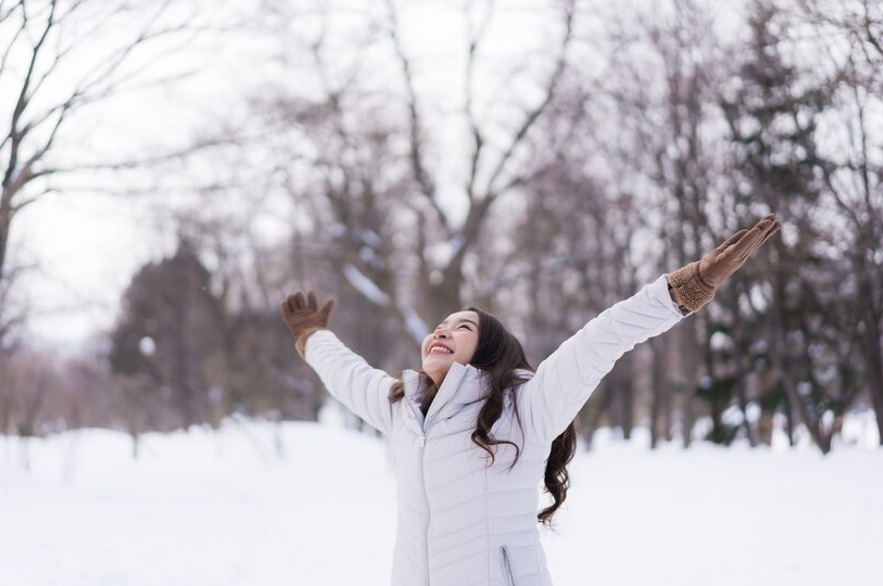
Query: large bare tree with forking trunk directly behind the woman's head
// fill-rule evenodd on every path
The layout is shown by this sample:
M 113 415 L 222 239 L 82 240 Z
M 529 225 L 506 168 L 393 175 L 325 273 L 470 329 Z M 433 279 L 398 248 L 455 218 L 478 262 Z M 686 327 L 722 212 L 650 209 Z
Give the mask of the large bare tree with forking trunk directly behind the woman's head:
M 316 263 L 336 267 L 361 300 L 359 323 L 377 320 L 374 331 L 392 326 L 404 342 L 396 346 L 413 353 L 428 322 L 467 297 L 492 296 L 499 280 L 475 270 L 491 234 L 512 228 L 497 229 L 493 212 L 520 201 L 537 171 L 530 141 L 569 67 L 575 12 L 571 2 L 550 2 L 542 14 L 554 42 L 531 55 L 532 69 L 510 63 L 500 75 L 493 69 L 500 63 L 484 51 L 494 20 L 503 16 L 493 3 L 464 8 L 466 40 L 447 46 L 462 59 L 462 75 L 441 90 L 440 101 L 438 86 L 428 81 L 436 72 L 415 58 L 403 24 L 414 4 L 382 7 L 346 15 L 362 18 L 357 34 L 348 31 L 348 41 L 362 47 L 355 53 L 335 50 L 342 42 L 333 35 L 335 14 L 317 10 L 319 33 L 302 52 L 311 55 L 305 65 L 315 84 L 308 92 L 281 93 L 264 111 L 274 132 L 283 123 L 300 139 L 297 154 L 286 153 L 294 158 L 291 167 L 303 169 L 292 186 L 302 211 L 298 242 L 315 252 Z M 441 2 L 433 8 L 446 16 L 454 10 Z M 357 56 L 341 56 L 349 54 Z M 519 102 L 515 90 L 530 98 Z M 346 318 L 340 313 L 336 319 Z

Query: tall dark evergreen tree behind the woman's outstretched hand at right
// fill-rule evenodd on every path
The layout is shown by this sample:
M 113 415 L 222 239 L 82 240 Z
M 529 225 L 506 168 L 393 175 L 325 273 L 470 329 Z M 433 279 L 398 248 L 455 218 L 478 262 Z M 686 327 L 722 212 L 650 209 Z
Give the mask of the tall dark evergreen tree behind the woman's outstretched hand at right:
M 799 416 L 828 451 L 860 391 L 852 359 L 848 264 L 817 217 L 829 163 L 816 136 L 831 86 L 787 63 L 779 37 L 786 28 L 782 18 L 766 0 L 753 4 L 749 51 L 721 98 L 733 139 L 736 205 L 766 203 L 790 228 L 773 243 L 770 254 L 778 258 L 769 267 L 740 276 L 745 282 L 766 279 L 767 286 L 748 290 L 743 283 L 733 322 L 741 332 L 733 345 L 746 360 L 773 369 L 773 377 L 757 379 L 766 416 L 773 410 Z

